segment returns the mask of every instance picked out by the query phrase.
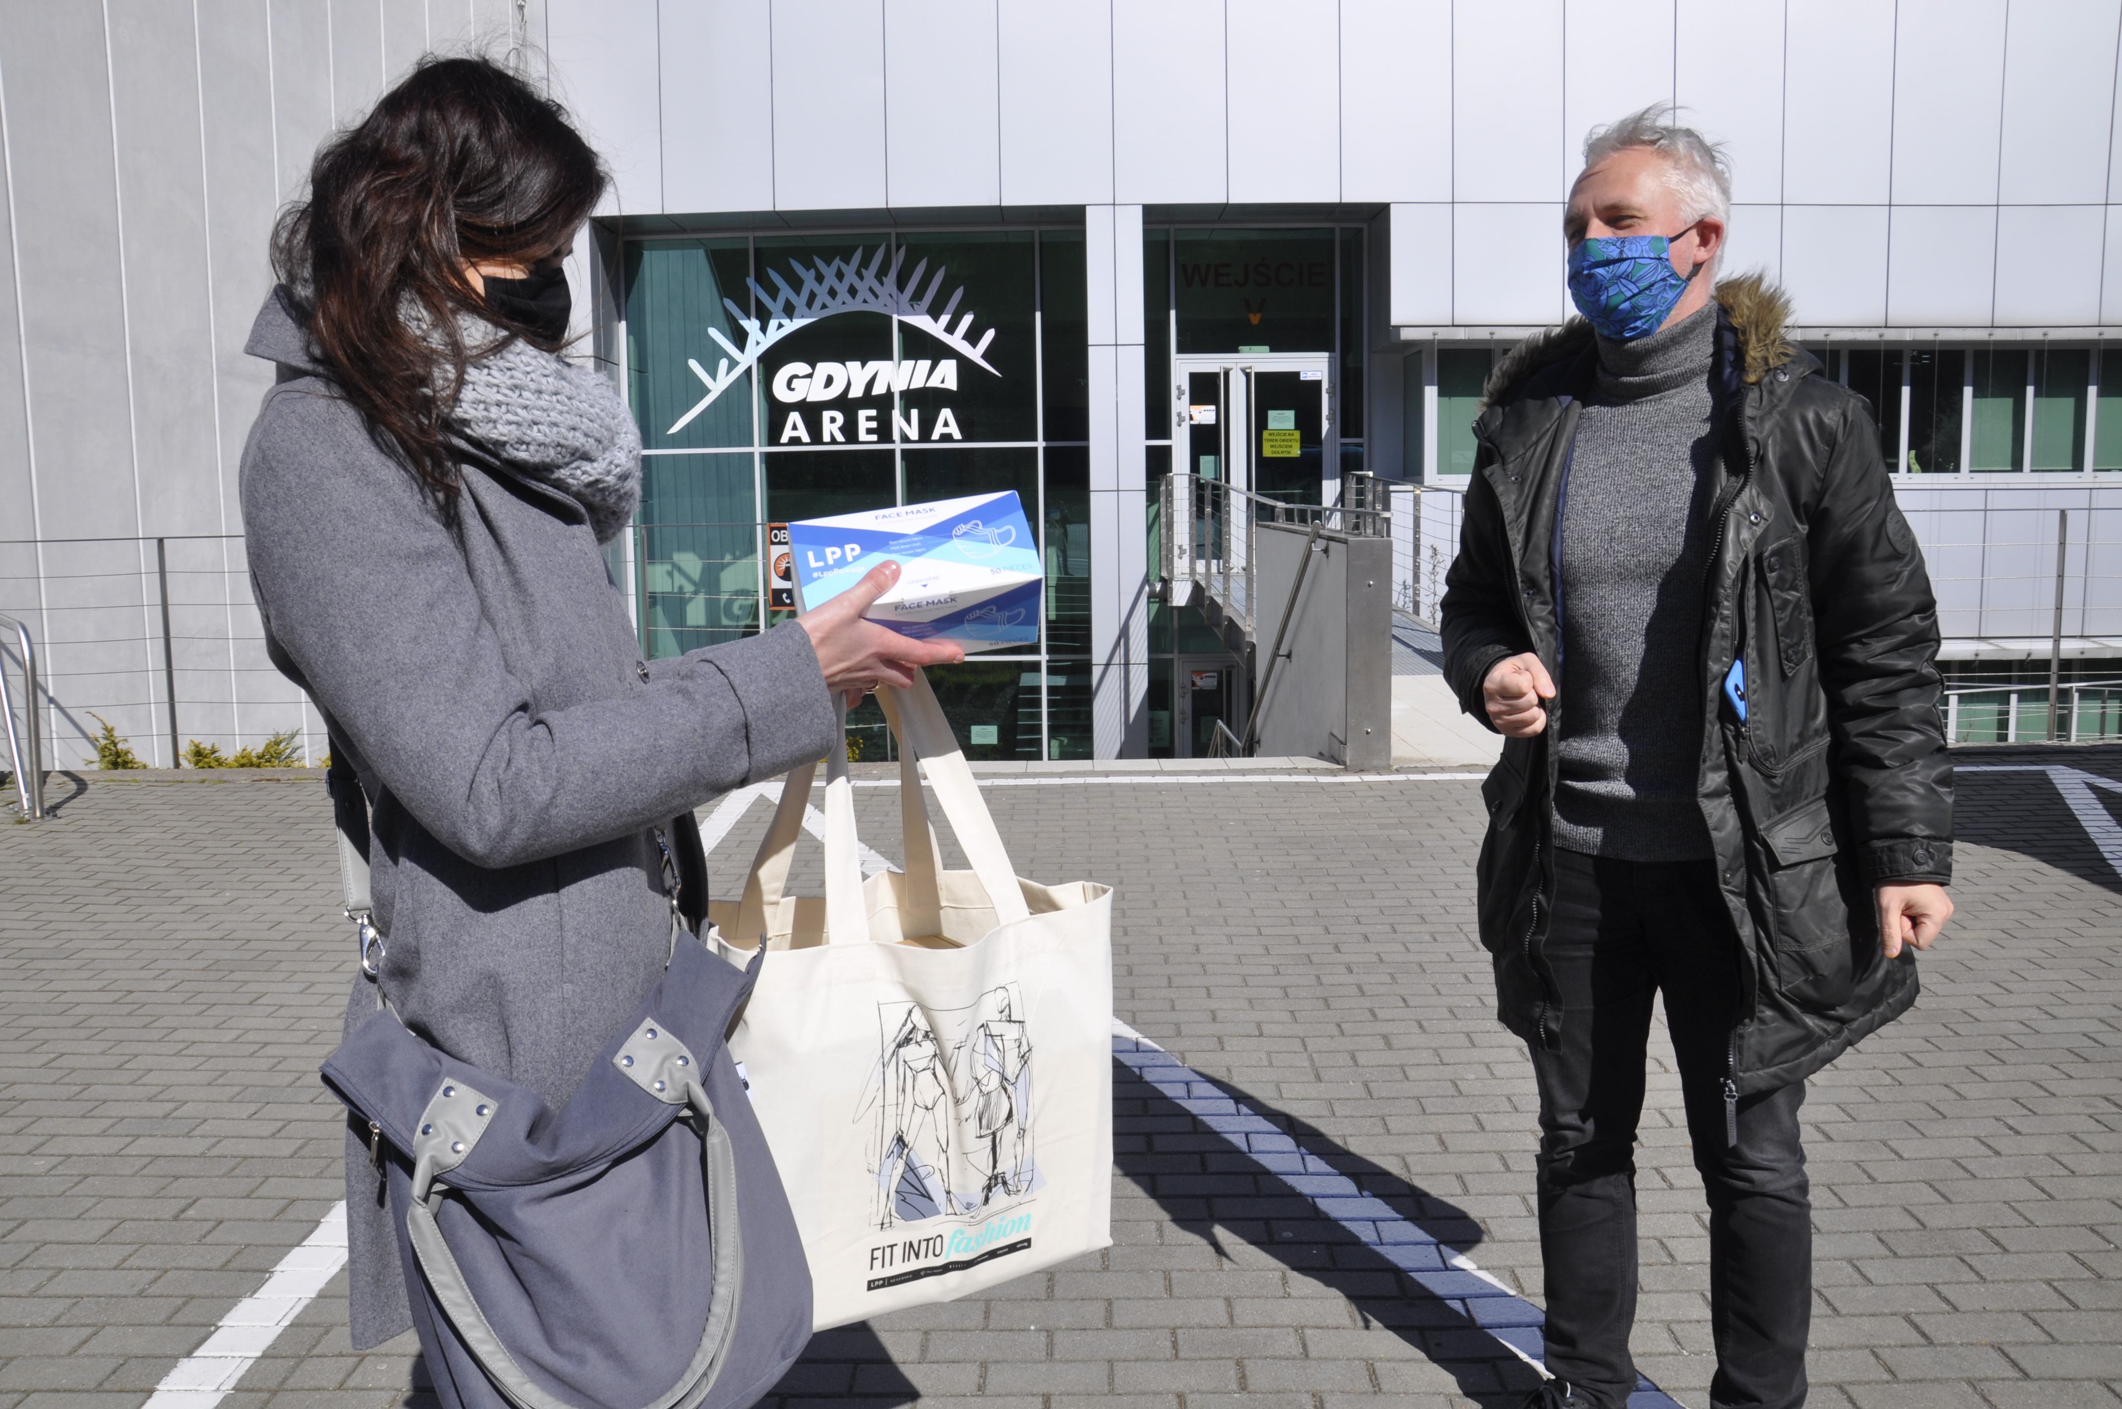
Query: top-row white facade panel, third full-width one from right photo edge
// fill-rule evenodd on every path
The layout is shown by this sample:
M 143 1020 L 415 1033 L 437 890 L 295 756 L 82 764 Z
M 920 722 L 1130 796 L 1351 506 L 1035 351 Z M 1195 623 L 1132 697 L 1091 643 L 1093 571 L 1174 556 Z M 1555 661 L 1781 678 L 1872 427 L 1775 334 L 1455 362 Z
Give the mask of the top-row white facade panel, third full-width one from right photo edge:
M 1789 0 L 1782 199 L 1806 206 L 1891 199 L 1893 8 L 1893 0 Z M 1791 221 L 1782 229 L 1789 240 Z

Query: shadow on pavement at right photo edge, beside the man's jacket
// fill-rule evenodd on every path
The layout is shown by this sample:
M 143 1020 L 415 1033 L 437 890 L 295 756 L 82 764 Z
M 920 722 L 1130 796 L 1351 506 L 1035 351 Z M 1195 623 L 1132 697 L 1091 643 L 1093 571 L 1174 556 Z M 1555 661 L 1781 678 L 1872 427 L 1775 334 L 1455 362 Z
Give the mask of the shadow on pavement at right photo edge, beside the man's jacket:
M 2114 745 L 2010 745 L 1952 749 L 1956 842 L 1995 847 L 2054 866 L 2122 895 L 2122 876 L 2086 834 L 2071 804 L 2043 768 L 2063 766 L 2122 779 L 2122 747 Z M 1997 768 L 1997 772 L 1990 772 Z M 2024 772 L 2020 772 L 2024 770 Z M 2092 802 L 2122 828 L 2122 794 L 2092 787 Z

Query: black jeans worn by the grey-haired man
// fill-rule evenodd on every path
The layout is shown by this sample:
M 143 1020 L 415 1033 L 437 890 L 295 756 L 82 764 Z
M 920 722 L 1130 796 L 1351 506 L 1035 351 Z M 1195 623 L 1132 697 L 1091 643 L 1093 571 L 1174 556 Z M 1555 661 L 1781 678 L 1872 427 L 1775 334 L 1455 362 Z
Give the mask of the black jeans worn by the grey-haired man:
M 1687 1135 L 1710 1203 L 1715 1409 L 1806 1403 L 1812 1203 L 1795 1082 L 1738 1101 L 1727 1142 L 1723 1080 L 1740 1004 L 1740 955 L 1710 862 L 1617 862 L 1555 851 L 1547 963 L 1562 991 L 1562 1046 L 1532 1050 L 1541 1082 L 1541 1258 L 1547 1369 L 1596 1405 L 1636 1388 L 1636 1120 L 1651 995 L 1681 1067 Z

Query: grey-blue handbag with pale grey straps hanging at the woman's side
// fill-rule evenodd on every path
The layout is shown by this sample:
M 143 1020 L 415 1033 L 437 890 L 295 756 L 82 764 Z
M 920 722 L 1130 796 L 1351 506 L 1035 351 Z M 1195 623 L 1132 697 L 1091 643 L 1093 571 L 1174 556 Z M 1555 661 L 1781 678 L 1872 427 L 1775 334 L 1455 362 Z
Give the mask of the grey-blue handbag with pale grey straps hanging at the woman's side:
M 367 857 L 348 853 L 369 968 Z M 325 1063 L 386 1165 L 446 1405 L 743 1409 L 802 1354 L 802 1239 L 724 1046 L 758 972 L 673 919 L 668 970 L 560 1110 L 384 1006 Z

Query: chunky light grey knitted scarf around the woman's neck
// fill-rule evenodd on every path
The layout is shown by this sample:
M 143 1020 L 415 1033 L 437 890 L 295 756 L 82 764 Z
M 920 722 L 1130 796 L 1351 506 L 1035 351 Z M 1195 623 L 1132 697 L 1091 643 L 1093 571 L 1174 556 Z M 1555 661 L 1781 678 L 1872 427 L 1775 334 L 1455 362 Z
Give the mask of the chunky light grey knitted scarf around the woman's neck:
M 465 344 L 503 333 L 463 318 Z M 520 337 L 465 367 L 450 416 L 518 471 L 571 494 L 598 543 L 620 537 L 641 503 L 641 433 L 609 378 Z

